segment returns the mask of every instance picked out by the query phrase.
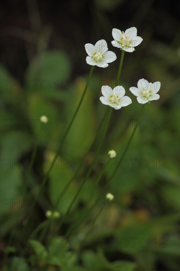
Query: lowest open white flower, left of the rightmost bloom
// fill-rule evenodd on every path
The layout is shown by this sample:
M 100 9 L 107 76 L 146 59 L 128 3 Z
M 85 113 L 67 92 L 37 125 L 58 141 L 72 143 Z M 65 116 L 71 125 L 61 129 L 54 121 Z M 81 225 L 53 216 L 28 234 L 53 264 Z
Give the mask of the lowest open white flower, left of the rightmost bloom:
M 122 86 L 117 86 L 113 90 L 109 86 L 102 86 L 102 95 L 99 99 L 103 104 L 114 107 L 116 110 L 122 106 L 127 106 L 132 103 L 131 99 L 125 95 L 125 89 Z

